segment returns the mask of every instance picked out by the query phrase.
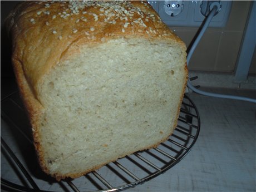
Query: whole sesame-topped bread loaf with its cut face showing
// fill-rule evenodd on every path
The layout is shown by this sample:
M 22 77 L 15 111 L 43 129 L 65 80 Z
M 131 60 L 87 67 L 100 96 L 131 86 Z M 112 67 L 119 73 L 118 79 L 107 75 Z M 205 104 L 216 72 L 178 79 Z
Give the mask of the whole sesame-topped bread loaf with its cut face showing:
M 147 2 L 29 1 L 7 22 L 47 174 L 77 178 L 172 134 L 186 47 Z

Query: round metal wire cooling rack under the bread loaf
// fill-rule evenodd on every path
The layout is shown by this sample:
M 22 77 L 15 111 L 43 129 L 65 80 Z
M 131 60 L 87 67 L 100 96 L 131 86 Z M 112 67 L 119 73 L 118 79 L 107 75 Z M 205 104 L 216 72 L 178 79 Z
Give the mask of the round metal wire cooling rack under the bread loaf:
M 1 100 L 1 188 L 6 191 L 120 191 L 144 183 L 179 163 L 195 144 L 200 117 L 184 96 L 178 126 L 155 149 L 135 152 L 78 179 L 57 182 L 42 173 L 18 92 Z

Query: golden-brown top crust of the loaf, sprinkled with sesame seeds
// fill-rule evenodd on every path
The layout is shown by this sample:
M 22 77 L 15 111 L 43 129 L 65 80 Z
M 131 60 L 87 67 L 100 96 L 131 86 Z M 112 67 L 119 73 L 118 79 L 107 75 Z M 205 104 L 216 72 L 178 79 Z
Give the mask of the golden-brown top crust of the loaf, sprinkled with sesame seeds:
M 143 37 L 173 41 L 185 50 L 183 41 L 144 1 L 26 1 L 7 20 L 13 58 L 21 61 L 34 93 L 43 75 L 79 53 L 82 45 Z

